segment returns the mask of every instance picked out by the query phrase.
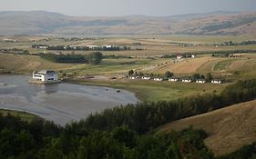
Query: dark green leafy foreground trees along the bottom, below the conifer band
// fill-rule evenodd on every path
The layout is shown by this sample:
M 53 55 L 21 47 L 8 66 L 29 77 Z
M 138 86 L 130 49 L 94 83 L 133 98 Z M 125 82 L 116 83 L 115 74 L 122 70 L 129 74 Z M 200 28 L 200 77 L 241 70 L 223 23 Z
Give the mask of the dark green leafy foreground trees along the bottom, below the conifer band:
M 88 131 L 75 123 L 60 127 L 0 115 L 3 159 L 211 159 L 213 154 L 203 143 L 206 137 L 192 128 L 159 134 L 137 134 L 126 125 Z

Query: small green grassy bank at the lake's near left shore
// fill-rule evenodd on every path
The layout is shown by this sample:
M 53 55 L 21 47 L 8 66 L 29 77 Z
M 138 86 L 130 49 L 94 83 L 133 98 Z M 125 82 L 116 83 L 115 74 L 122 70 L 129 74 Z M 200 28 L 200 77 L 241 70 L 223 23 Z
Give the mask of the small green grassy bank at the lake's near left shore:
M 4 109 L 0 109 L 0 114 L 2 115 L 12 115 L 12 116 L 16 116 L 16 117 L 20 117 L 22 120 L 24 121 L 32 121 L 35 120 L 36 118 L 40 118 L 38 116 L 36 116 L 35 114 L 28 114 L 26 112 L 20 112 L 20 111 L 14 111 L 14 110 L 4 110 Z

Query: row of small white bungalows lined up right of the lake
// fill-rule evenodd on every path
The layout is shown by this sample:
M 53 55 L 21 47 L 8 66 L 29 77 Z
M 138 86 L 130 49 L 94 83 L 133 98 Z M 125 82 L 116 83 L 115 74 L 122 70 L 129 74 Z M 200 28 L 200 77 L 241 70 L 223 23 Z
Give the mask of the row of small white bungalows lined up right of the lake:
M 130 76 L 129 77 L 130 79 L 138 79 L 140 78 L 139 76 Z M 142 76 L 141 79 L 143 80 L 150 80 L 150 79 L 153 79 L 154 81 L 163 81 L 164 78 L 162 77 L 154 77 L 154 78 L 151 78 L 149 76 Z M 172 78 L 169 78 L 168 81 L 170 82 L 178 82 L 179 81 L 179 78 L 178 77 L 172 77 Z M 193 82 L 192 79 L 189 79 L 189 78 L 183 78 L 181 79 L 181 82 L 183 83 L 191 83 Z M 206 83 L 206 80 L 205 79 L 197 79 L 195 81 L 196 83 L 199 83 L 199 84 L 205 84 Z M 212 84 L 222 84 L 222 80 L 220 79 L 213 79 L 210 81 Z

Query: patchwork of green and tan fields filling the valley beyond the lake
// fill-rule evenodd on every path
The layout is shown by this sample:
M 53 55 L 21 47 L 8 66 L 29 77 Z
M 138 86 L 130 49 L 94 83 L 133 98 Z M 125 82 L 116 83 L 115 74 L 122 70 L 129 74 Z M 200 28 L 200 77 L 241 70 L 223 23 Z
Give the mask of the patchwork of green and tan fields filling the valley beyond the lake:
M 4 37 L 3 37 L 4 38 Z M 100 65 L 87 64 L 56 64 L 44 60 L 36 55 L 6 55 L 0 54 L 0 72 L 31 74 L 34 70 L 54 69 L 62 77 L 63 73 L 79 79 L 83 84 L 107 85 L 134 92 L 142 101 L 174 100 L 183 95 L 201 94 L 221 90 L 226 84 L 182 84 L 154 81 L 131 81 L 124 79 L 123 75 L 129 70 L 137 73 L 163 75 L 165 72 L 173 72 L 176 76 L 193 75 L 196 73 L 223 77 L 234 82 L 242 78 L 253 77 L 256 68 L 255 54 L 241 54 L 237 58 L 212 57 L 203 55 L 208 51 L 256 49 L 256 45 L 234 45 L 215 47 L 212 44 L 221 44 L 226 41 L 240 43 L 253 40 L 252 36 L 126 36 L 126 37 L 102 37 L 70 41 L 65 38 L 46 36 L 17 36 L 5 37 L 18 41 L 18 43 L 5 43 L 0 41 L 0 48 L 23 48 L 31 53 L 55 53 L 55 51 L 32 49 L 31 45 L 128 45 L 130 51 L 104 51 L 103 55 L 126 55 L 132 58 L 103 59 Z M 1 38 L 0 38 L 1 39 Z M 201 46 L 179 46 L 182 44 L 200 44 Z M 212 45 L 212 46 L 208 46 Z M 76 51 L 75 54 L 86 55 L 91 51 Z M 160 58 L 161 55 L 179 54 L 184 52 L 200 52 L 196 58 L 183 59 L 174 62 L 174 59 Z M 62 51 L 70 54 L 71 51 Z M 86 80 L 84 75 L 100 75 L 105 80 Z M 118 80 L 109 80 L 110 77 Z M 83 79 L 81 81 L 81 79 Z M 230 83 L 229 83 L 230 84 Z

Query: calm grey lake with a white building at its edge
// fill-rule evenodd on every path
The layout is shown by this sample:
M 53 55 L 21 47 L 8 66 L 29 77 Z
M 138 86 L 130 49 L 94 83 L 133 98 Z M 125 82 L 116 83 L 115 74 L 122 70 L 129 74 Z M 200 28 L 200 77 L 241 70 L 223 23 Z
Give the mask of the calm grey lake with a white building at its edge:
M 28 84 L 26 75 L 0 75 L 0 109 L 36 114 L 67 124 L 117 105 L 136 104 L 126 90 L 81 84 Z

